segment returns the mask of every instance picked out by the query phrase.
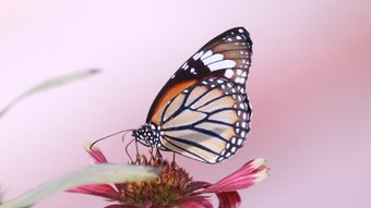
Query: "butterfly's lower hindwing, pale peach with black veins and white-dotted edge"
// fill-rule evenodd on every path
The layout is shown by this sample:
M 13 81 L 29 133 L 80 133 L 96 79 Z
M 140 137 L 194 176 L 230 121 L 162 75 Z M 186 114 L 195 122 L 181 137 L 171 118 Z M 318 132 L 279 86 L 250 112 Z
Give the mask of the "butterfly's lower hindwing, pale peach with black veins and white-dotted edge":
M 161 109 L 163 147 L 203 162 L 219 162 L 242 146 L 250 114 L 244 95 L 232 82 L 206 78 Z

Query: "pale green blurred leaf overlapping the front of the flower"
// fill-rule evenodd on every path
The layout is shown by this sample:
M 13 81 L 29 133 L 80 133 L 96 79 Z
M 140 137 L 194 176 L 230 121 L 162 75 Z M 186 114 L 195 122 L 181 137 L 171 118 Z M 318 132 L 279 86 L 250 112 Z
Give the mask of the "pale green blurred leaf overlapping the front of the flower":
M 26 192 L 17 198 L 4 201 L 0 208 L 25 208 L 58 192 L 88 184 L 111 184 L 153 180 L 158 170 L 153 167 L 130 164 L 94 164 L 63 174 Z

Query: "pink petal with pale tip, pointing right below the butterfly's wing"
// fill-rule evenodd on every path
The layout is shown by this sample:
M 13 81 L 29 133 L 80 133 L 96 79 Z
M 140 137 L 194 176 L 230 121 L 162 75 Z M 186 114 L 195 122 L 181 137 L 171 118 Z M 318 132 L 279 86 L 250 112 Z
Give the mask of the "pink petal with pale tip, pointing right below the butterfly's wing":
M 201 193 L 232 192 L 247 188 L 263 181 L 268 175 L 267 172 L 268 169 L 264 166 L 264 159 L 251 160 Z

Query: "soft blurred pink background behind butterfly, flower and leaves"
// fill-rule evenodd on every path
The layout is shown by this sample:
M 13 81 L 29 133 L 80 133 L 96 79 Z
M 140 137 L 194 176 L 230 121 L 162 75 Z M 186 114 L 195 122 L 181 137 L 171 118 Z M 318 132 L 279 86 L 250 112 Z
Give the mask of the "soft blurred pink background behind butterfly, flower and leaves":
M 128 2 L 0 1 L 0 107 L 45 78 L 104 69 L 26 99 L 0 120 L 7 198 L 88 164 L 86 140 L 142 124 L 189 56 L 242 25 L 254 42 L 249 139 L 222 164 L 179 162 L 216 181 L 266 158 L 272 175 L 241 192 L 242 207 L 371 207 L 371 1 Z M 122 161 L 119 137 L 100 147 Z M 62 193 L 36 207 L 105 204 Z

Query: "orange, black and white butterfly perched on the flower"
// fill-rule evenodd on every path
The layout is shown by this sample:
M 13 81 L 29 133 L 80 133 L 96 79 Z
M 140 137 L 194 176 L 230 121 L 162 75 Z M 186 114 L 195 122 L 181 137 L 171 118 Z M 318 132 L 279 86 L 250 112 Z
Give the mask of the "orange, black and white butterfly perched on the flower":
M 242 147 L 250 131 L 246 82 L 252 41 L 236 27 L 210 40 L 170 77 L 132 131 L 139 143 L 217 163 Z

